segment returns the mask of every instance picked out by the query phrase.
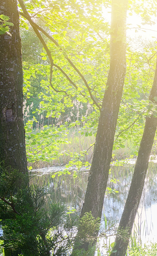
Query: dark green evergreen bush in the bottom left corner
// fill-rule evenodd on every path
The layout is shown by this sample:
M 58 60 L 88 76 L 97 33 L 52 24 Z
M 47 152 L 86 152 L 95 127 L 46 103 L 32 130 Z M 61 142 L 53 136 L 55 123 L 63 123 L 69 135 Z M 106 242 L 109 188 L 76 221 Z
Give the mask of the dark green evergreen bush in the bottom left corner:
M 66 207 L 49 199 L 47 187 L 29 185 L 30 177 L 0 168 L 1 252 L 7 255 L 64 256 L 74 238 Z

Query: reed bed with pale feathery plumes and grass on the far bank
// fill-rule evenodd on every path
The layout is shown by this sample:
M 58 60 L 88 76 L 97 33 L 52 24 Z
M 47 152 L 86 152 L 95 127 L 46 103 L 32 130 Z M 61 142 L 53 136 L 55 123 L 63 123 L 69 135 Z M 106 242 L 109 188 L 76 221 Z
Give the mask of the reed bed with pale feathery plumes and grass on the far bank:
M 44 131 L 44 124 L 47 124 L 49 127 L 56 127 L 60 128 L 62 125 L 66 128 L 65 133 L 62 133 L 62 139 L 65 139 L 68 141 L 68 144 L 66 143 L 59 143 L 58 148 L 56 150 L 58 153 L 53 157 L 50 157 L 48 153 L 46 160 L 40 160 L 37 159 L 35 162 L 29 162 L 28 166 L 32 166 L 33 168 L 42 168 L 44 166 L 52 166 L 52 165 L 65 165 L 68 164 L 69 161 L 78 158 L 79 161 L 81 162 L 86 162 L 88 161 L 91 163 L 92 161 L 92 156 L 93 156 L 93 150 L 94 150 L 94 143 L 95 143 L 95 135 L 94 133 L 96 132 L 96 127 L 93 128 L 87 128 L 88 131 L 85 132 L 85 122 L 91 120 L 92 125 L 92 119 L 90 115 L 93 112 L 93 107 L 91 104 L 87 105 L 82 105 L 81 102 L 78 100 L 74 99 L 72 102 L 72 107 L 71 109 L 68 110 L 67 114 L 65 113 L 60 113 L 58 115 L 59 117 L 56 117 L 55 120 L 51 115 L 45 117 L 46 110 L 42 110 L 43 106 L 42 104 L 39 105 L 40 111 L 36 112 L 36 119 L 34 118 L 34 123 L 30 127 L 29 131 L 30 134 L 37 134 L 40 133 L 41 131 Z M 33 102 L 30 105 L 27 105 L 26 100 L 24 101 L 24 106 L 23 106 L 23 115 L 24 115 L 24 122 L 28 123 L 30 122 L 30 119 L 32 117 L 32 111 L 33 111 Z M 35 113 L 34 112 L 34 113 Z M 45 114 L 44 114 L 45 112 Z M 52 113 L 53 114 L 53 113 Z M 97 115 L 95 117 L 95 126 L 97 123 Z M 76 123 L 75 123 L 76 122 Z M 74 125 L 74 126 L 73 126 Z M 95 130 L 94 130 L 95 129 Z M 82 131 L 84 131 L 85 134 L 82 135 Z M 92 132 L 91 132 L 92 131 Z M 88 135 L 88 136 L 87 136 Z M 47 148 L 48 144 L 52 143 L 52 140 L 49 139 L 47 143 Z M 42 144 L 42 141 L 41 141 Z M 137 146 L 131 142 L 131 140 L 126 140 L 124 142 L 125 147 L 124 148 L 118 148 L 113 151 L 113 160 L 123 160 L 129 157 L 134 157 L 135 156 L 135 151 L 137 151 Z M 38 148 L 38 145 L 30 145 L 29 139 L 26 139 L 26 147 L 28 151 L 32 151 L 32 154 L 34 152 L 38 151 L 36 150 Z M 42 148 L 45 148 L 45 145 L 42 146 Z M 55 151 L 56 151 L 55 150 Z M 51 151 L 51 149 L 50 149 Z M 48 150 L 47 150 L 48 152 Z M 36 153 L 35 153 L 36 154 Z

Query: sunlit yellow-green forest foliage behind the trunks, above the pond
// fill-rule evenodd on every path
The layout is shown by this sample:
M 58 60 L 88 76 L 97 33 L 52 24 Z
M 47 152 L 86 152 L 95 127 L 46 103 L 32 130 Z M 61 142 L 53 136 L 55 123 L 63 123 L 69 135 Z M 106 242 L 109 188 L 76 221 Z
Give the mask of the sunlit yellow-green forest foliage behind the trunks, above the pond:
M 40 13 L 35 10 L 37 14 L 34 17 L 41 26 L 54 31 L 52 33 L 59 42 L 61 41 L 61 47 L 63 47 L 63 39 L 65 40 L 64 51 L 67 52 L 70 48 L 70 56 L 88 81 L 96 103 L 101 105 L 110 62 L 110 25 L 108 21 L 105 22 L 104 9 L 101 10 L 101 5 L 98 6 L 97 3 L 96 7 L 99 10 L 94 12 L 94 20 L 91 20 L 90 16 L 93 13 L 92 10 L 89 11 L 84 7 L 83 10 L 87 9 L 87 13 L 89 12 L 88 20 L 86 17 L 88 23 L 80 23 L 81 31 L 76 14 L 73 13 L 77 22 L 72 24 L 72 16 L 66 20 L 67 16 L 64 18 L 64 15 L 67 15 L 68 10 L 66 9 L 66 12 L 64 9 L 61 10 L 59 3 L 53 8 L 53 18 L 55 19 L 53 28 L 49 28 L 50 25 L 46 24 L 44 20 L 46 19 L 45 14 L 42 14 L 44 9 Z M 138 28 L 135 28 L 136 37 L 134 39 L 129 37 L 127 41 L 127 74 L 113 146 L 113 161 L 116 160 L 116 164 L 118 164 L 118 160 L 133 158 L 137 155 L 145 117 L 154 111 L 153 106 L 148 102 L 148 95 L 153 81 L 156 39 L 148 40 L 138 36 L 138 31 L 143 30 L 144 23 L 154 24 L 154 16 L 148 16 L 146 10 L 147 6 L 141 10 L 144 21 L 143 25 L 140 24 Z M 59 11 L 62 11 L 62 16 Z M 140 12 L 140 9 L 136 12 Z M 46 15 L 48 16 L 50 13 Z M 129 15 L 132 16 L 131 11 L 129 11 Z M 59 22 L 57 22 L 57 17 Z M 146 21 L 147 19 L 148 21 Z M 45 24 L 42 24 L 43 21 Z M 86 162 L 85 165 L 87 165 L 92 158 L 99 109 L 93 104 L 90 93 L 81 79 L 68 67 L 67 63 L 63 62 L 61 53 L 57 54 L 59 50 L 50 42 L 51 51 L 54 53 L 54 62 L 64 67 L 64 71 L 70 74 L 72 80 L 76 81 L 77 90 L 73 89 L 64 74 L 55 67 L 52 86 L 56 92 L 49 86 L 50 66 L 46 53 L 30 25 L 26 24 L 26 20 L 21 20 L 21 26 L 25 27 L 21 30 L 21 37 L 28 163 L 33 168 L 45 166 L 44 162 L 57 165 L 77 165 L 77 167 Z M 147 30 L 145 32 L 147 33 Z M 153 154 L 156 154 L 155 146 Z

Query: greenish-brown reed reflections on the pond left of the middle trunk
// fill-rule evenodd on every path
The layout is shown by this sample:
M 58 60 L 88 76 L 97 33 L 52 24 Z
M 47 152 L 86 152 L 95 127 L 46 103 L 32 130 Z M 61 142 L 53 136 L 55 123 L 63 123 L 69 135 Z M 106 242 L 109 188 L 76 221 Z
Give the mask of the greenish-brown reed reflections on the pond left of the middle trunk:
M 48 183 L 50 198 L 54 202 L 66 203 L 68 206 L 74 207 L 78 214 L 80 213 L 83 199 L 85 196 L 88 173 L 79 173 L 77 178 L 73 175 L 63 174 L 52 178 L 53 173 L 34 176 L 33 183 L 38 183 L 41 186 Z

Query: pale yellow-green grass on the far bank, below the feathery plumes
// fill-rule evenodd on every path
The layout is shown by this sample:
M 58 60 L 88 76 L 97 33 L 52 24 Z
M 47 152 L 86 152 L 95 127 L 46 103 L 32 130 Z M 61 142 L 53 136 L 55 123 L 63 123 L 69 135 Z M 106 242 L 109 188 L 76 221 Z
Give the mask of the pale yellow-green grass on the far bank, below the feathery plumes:
M 93 157 L 93 150 L 94 150 L 94 143 L 95 143 L 95 136 L 85 136 L 81 135 L 79 132 L 79 128 L 70 128 L 69 134 L 67 135 L 68 144 L 60 143 L 58 149 L 58 155 L 54 160 L 49 160 L 48 162 L 38 161 L 35 163 L 30 163 L 33 168 L 42 168 L 45 166 L 52 166 L 52 165 L 65 165 L 68 164 L 70 160 L 75 158 L 75 156 L 79 155 L 79 160 L 82 162 L 88 161 L 91 163 Z M 40 129 L 34 129 L 33 133 L 36 134 L 40 132 Z M 29 150 L 34 151 L 36 146 L 29 146 Z M 135 151 L 137 148 L 135 145 L 130 141 L 125 141 L 125 148 L 119 148 L 113 151 L 113 160 L 123 160 L 126 158 L 135 157 Z

